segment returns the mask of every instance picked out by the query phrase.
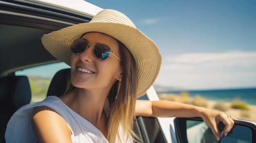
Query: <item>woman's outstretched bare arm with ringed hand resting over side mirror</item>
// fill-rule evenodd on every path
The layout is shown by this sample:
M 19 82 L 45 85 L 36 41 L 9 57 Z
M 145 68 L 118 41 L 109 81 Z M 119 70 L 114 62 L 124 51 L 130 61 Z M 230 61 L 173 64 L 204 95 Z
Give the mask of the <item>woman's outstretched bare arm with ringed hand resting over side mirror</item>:
M 164 100 L 137 100 L 135 115 L 151 117 L 201 117 L 211 128 L 217 140 L 220 140 L 222 136 L 227 136 L 234 125 L 233 120 L 236 120 L 234 117 L 227 117 L 223 112 Z M 224 123 L 225 129 L 220 133 L 217 125 L 221 121 Z

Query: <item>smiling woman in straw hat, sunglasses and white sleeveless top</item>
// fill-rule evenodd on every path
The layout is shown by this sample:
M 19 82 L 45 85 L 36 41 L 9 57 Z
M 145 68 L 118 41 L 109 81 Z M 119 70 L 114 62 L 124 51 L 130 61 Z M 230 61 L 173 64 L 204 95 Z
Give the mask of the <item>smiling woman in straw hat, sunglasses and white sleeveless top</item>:
M 236 118 L 223 112 L 136 101 L 155 81 L 162 58 L 123 13 L 105 9 L 89 23 L 44 35 L 42 43 L 71 66 L 70 84 L 61 97 L 20 108 L 7 125 L 7 143 L 132 142 L 135 116 L 202 117 L 218 140 L 234 125 Z M 221 133 L 220 121 L 225 124 Z

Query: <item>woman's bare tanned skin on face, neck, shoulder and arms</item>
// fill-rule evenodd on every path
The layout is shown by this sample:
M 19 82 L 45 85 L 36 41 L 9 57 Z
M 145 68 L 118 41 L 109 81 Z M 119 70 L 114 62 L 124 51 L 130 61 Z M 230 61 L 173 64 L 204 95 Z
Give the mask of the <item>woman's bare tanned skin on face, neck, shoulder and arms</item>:
M 82 39 L 89 44 L 103 43 L 110 46 L 111 50 L 120 57 L 117 41 L 103 33 L 86 33 Z M 84 68 L 92 73 L 83 73 L 77 68 Z M 106 73 L 108 76 L 106 76 Z M 60 99 L 74 112 L 88 120 L 98 128 L 106 137 L 106 114 L 103 110 L 110 88 L 122 75 L 120 60 L 114 55 L 105 61 L 100 61 L 94 56 L 93 46 L 86 51 L 71 57 L 72 84 L 77 87 Z M 234 125 L 232 119 L 227 118 L 223 112 L 208 110 L 206 108 L 190 106 L 170 101 L 136 101 L 136 116 L 151 117 L 202 117 L 213 130 L 216 137 L 227 134 Z M 220 121 L 226 125 L 222 133 L 218 133 L 216 124 Z M 31 126 L 38 143 L 72 143 L 72 132 L 65 120 L 56 111 L 46 106 L 34 108 Z

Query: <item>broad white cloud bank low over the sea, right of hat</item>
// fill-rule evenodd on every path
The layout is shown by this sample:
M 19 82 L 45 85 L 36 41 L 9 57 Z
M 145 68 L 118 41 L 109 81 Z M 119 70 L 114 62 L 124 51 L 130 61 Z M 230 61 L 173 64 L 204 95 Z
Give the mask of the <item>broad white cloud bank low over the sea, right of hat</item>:
M 155 84 L 189 88 L 256 86 L 256 52 L 190 53 L 163 58 Z

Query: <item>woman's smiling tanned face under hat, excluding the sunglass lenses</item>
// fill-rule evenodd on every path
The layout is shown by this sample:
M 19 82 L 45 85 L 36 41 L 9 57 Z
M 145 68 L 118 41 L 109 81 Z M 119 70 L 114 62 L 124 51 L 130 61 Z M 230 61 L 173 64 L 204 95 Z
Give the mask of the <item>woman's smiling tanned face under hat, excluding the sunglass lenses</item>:
M 119 46 L 115 38 L 97 32 L 86 33 L 82 39 L 88 41 L 89 47 L 81 54 L 72 54 L 71 81 L 77 88 L 108 88 L 121 78 Z M 110 54 L 108 59 L 101 61 L 93 53 L 95 43 L 106 44 L 117 55 Z M 80 71 L 82 70 L 82 71 Z M 87 71 L 87 72 L 86 72 Z

